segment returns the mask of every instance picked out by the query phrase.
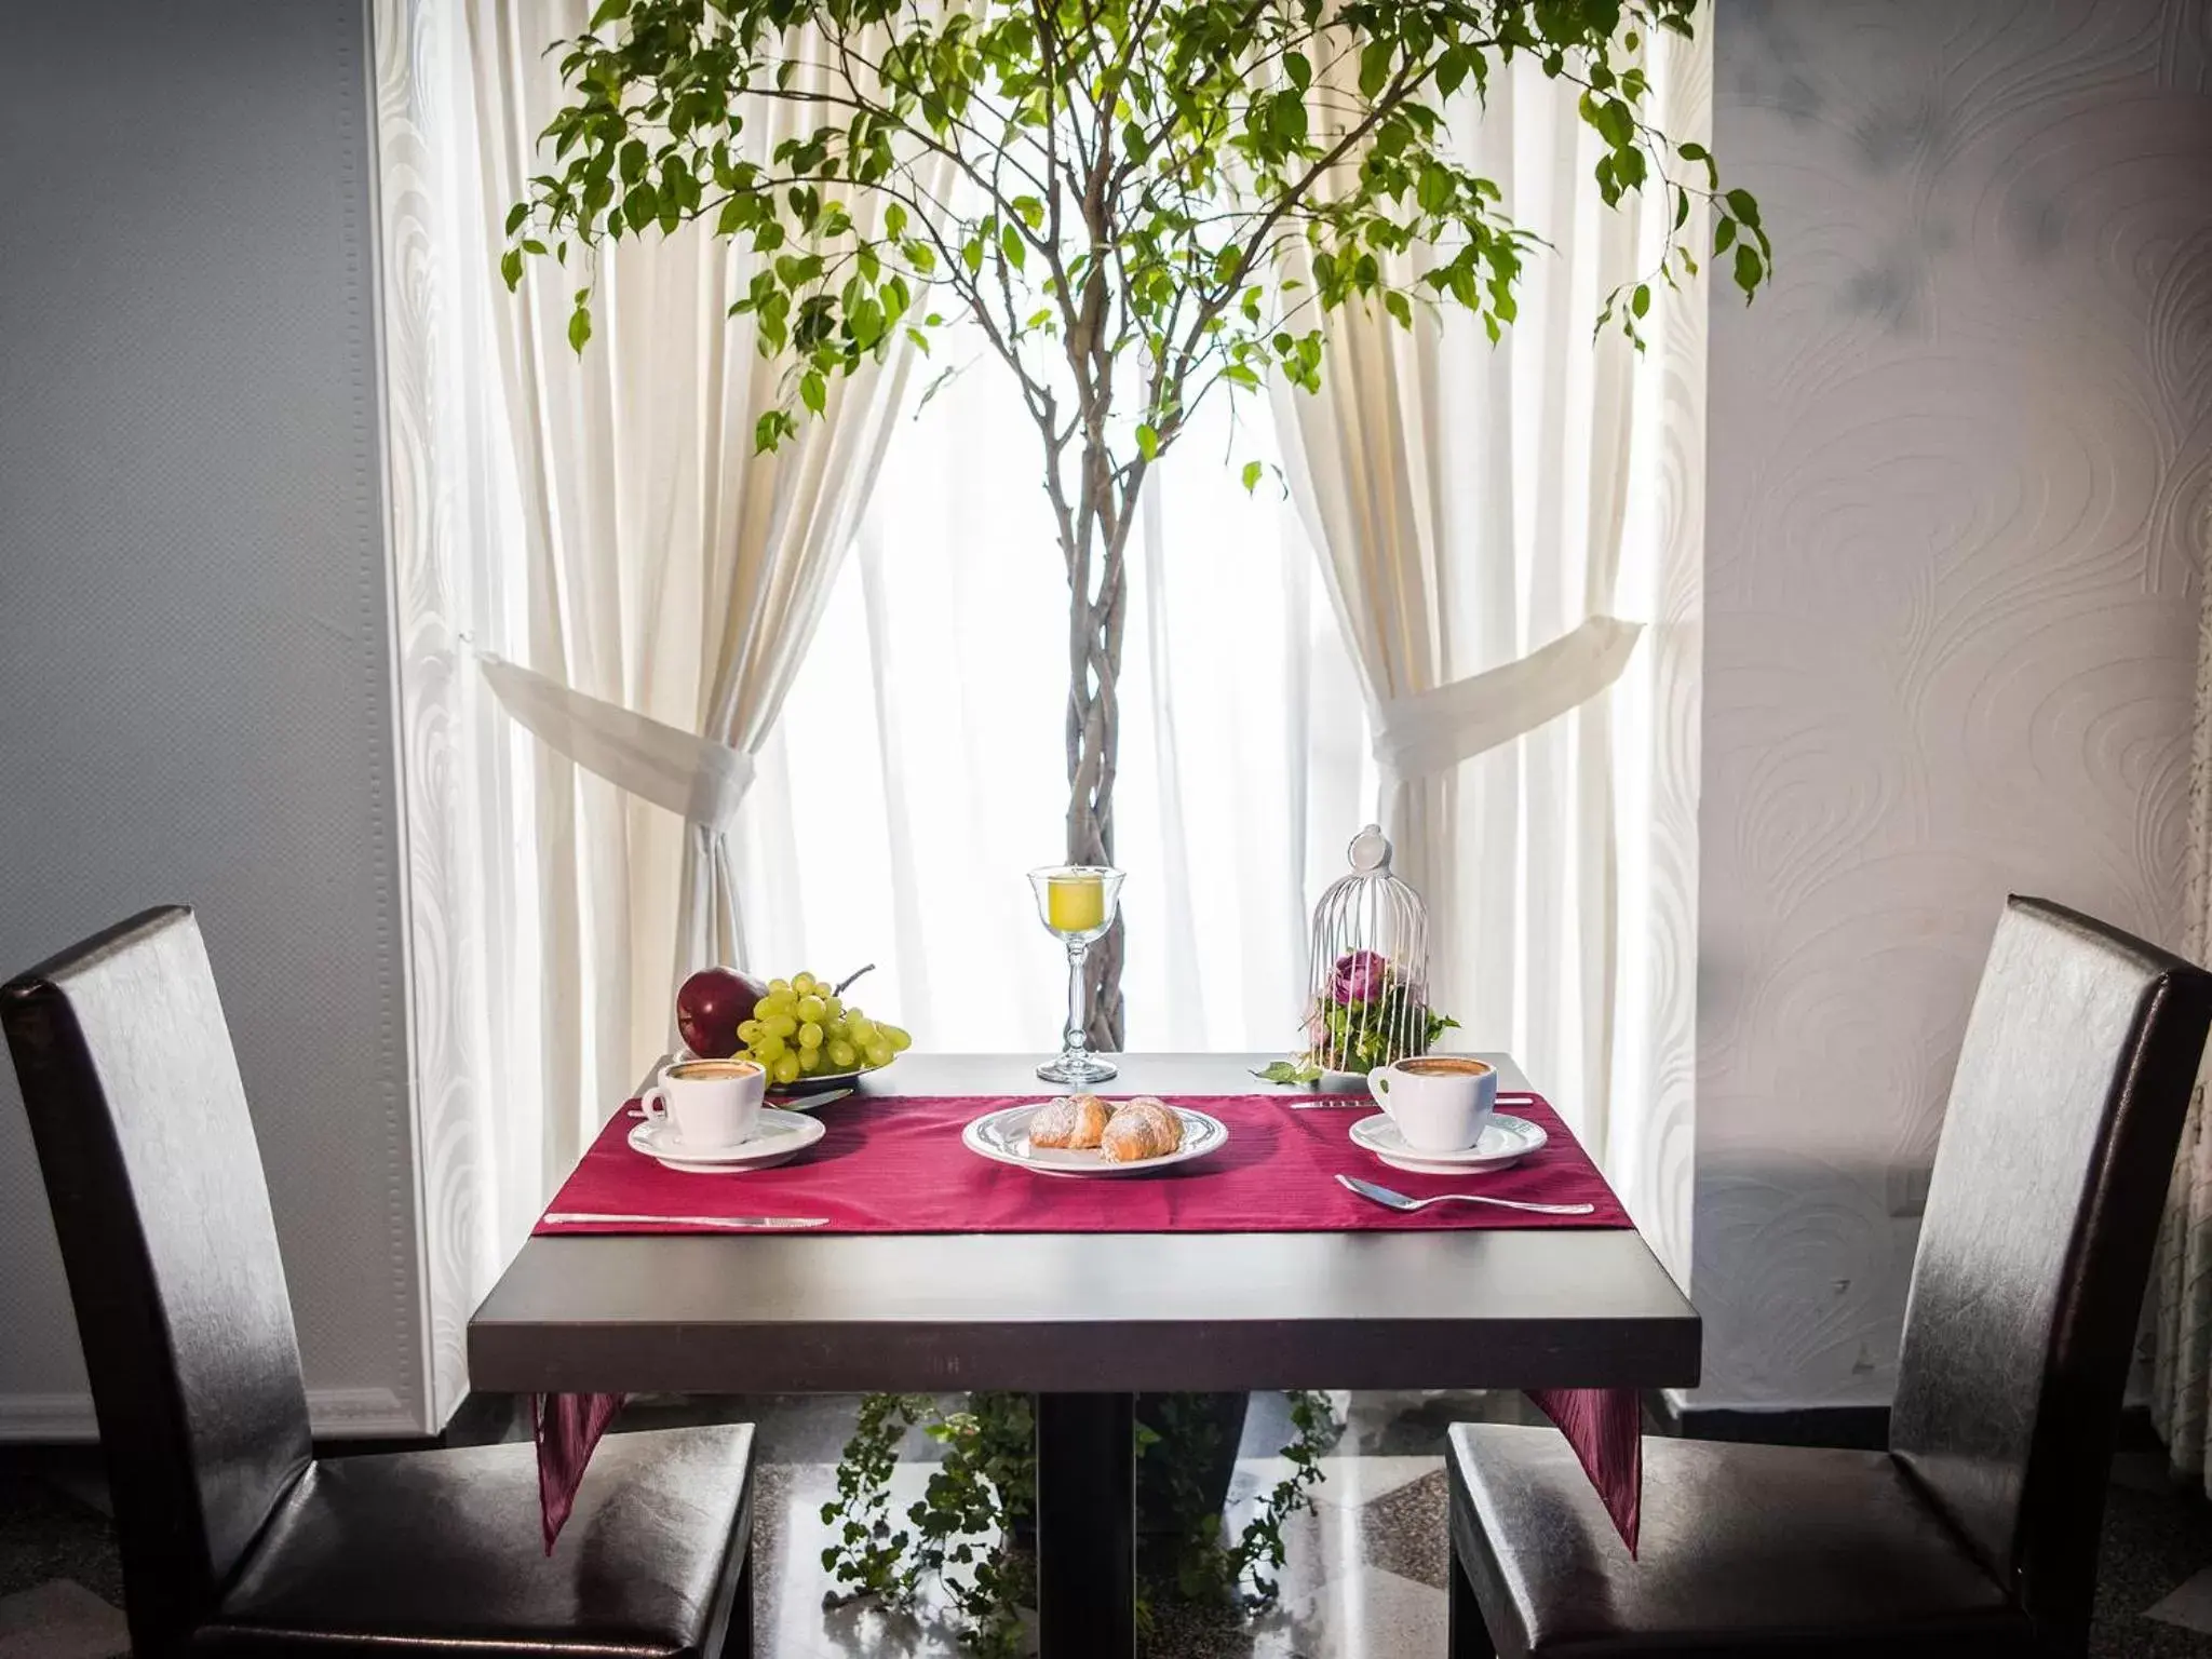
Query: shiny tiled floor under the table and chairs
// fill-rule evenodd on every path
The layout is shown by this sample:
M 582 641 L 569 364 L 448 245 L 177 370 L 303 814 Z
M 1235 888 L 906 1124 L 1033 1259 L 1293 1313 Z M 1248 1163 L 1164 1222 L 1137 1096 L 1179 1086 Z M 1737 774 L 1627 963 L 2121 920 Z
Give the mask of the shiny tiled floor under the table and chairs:
M 1347 1427 L 1325 1460 L 1316 1506 L 1287 1528 L 1290 1562 L 1274 1608 L 1250 1619 L 1197 1613 L 1161 1586 L 1150 1597 L 1152 1659 L 1416 1659 L 1444 1652 L 1444 1427 L 1467 1418 L 1531 1420 L 1520 1396 L 1338 1396 Z M 750 1418 L 759 1425 L 759 1644 L 772 1659 L 936 1659 L 958 1655 L 929 1608 L 885 1615 L 838 1604 L 821 1566 L 821 1504 L 852 1422 L 849 1400 L 644 1400 L 628 1427 Z M 504 1411 L 473 1411 L 469 1438 L 518 1431 Z M 1232 1511 L 1274 1480 L 1287 1422 L 1256 1396 Z M 927 1442 L 898 1478 L 918 1493 Z M 0 1455 L 0 1659 L 106 1659 L 124 1650 L 122 1573 L 100 1484 L 80 1455 Z M 1234 1513 L 1232 1513 L 1234 1520 Z M 2212 1504 L 2166 1480 L 2163 1453 L 2121 1453 L 2106 1509 L 2097 1659 L 2212 1659 Z

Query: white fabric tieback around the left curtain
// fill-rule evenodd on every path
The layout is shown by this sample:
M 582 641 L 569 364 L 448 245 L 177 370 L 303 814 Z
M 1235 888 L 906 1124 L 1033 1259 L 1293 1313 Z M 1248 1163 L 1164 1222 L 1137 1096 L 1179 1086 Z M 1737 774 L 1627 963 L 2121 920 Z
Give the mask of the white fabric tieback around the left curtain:
M 752 757 L 710 737 L 635 714 L 511 664 L 476 653 L 491 695 L 557 754 L 641 801 L 721 834 L 752 783 Z

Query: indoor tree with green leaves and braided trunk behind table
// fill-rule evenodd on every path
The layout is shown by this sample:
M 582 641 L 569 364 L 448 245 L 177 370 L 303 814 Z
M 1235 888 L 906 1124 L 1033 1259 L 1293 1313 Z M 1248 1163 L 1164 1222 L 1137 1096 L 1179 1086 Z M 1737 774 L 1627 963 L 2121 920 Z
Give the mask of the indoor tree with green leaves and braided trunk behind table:
M 1068 580 L 1066 858 L 1113 860 L 1126 549 L 1150 469 L 1225 387 L 1312 392 L 1343 307 L 1411 327 L 1473 312 L 1495 338 L 1540 234 L 1453 157 L 1515 58 L 1579 86 L 1608 206 L 1666 192 L 1650 272 L 1599 327 L 1637 338 L 1655 285 L 1712 252 L 1750 294 L 1759 206 L 1646 119 L 1644 40 L 1697 0 L 606 0 L 557 44 L 571 97 L 546 173 L 507 221 L 502 270 L 573 268 L 591 338 L 593 250 L 703 219 L 750 250 L 732 312 L 790 365 L 774 449 L 832 376 L 971 323 L 1037 431 Z M 763 102 L 794 135 L 748 139 Z M 867 197 L 874 208 L 854 212 Z M 1261 478 L 1243 467 L 1245 487 Z M 1091 956 L 1091 1040 L 1121 1042 L 1119 931 Z

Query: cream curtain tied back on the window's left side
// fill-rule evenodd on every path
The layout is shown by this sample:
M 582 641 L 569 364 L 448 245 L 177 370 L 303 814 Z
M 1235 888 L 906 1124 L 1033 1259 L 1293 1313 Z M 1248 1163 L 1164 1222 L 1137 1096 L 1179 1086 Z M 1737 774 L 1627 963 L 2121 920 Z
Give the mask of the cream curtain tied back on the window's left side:
M 754 458 L 781 369 L 697 228 L 498 279 L 584 0 L 380 0 L 418 1135 L 438 1391 L 458 1329 L 664 1051 L 681 971 L 743 953 L 728 830 L 905 396 L 907 347 Z M 814 73 L 814 71 L 803 71 Z M 748 144 L 792 131 L 763 111 Z M 865 215 L 863 204 L 854 204 Z M 451 1352 L 449 1352 L 451 1349 Z

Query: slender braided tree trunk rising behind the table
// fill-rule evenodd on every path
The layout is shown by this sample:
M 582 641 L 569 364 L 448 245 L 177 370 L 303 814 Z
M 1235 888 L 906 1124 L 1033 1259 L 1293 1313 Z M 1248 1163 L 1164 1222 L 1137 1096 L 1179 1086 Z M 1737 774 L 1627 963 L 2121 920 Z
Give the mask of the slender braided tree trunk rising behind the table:
M 1117 489 L 1104 445 L 1084 456 L 1093 511 L 1075 529 L 1068 562 L 1068 845 L 1071 865 L 1113 863 L 1113 785 L 1119 750 L 1121 633 L 1128 582 L 1121 553 L 1141 473 Z M 1091 947 L 1088 1022 L 1095 1051 L 1121 1046 L 1121 918 Z

